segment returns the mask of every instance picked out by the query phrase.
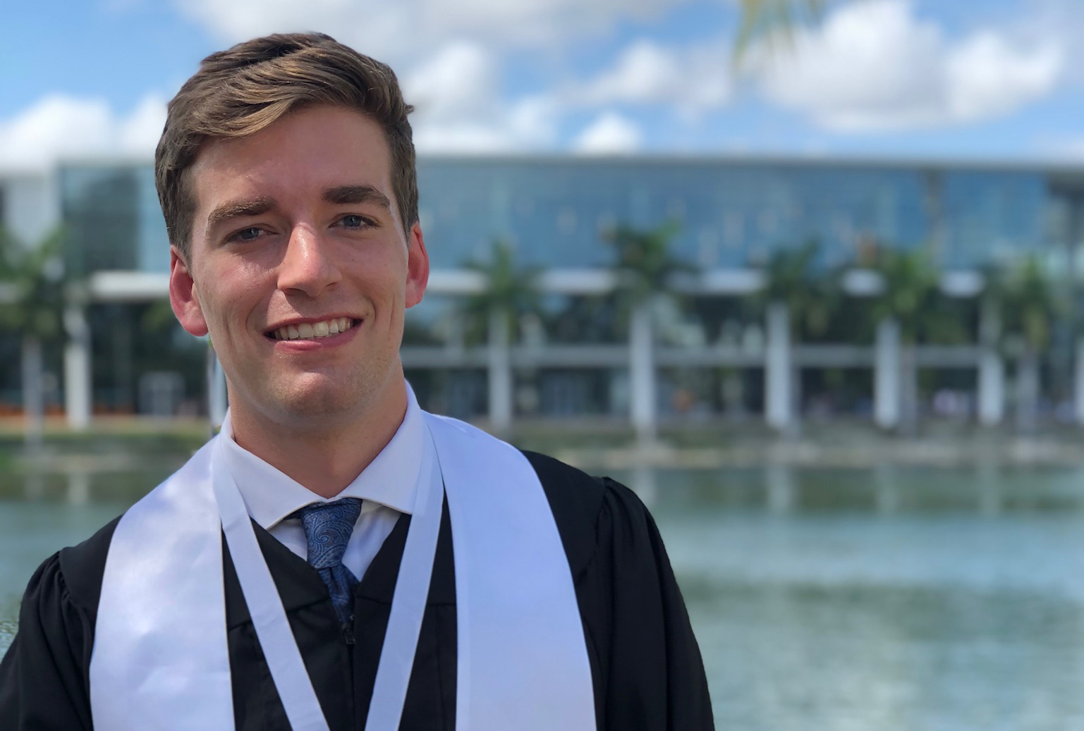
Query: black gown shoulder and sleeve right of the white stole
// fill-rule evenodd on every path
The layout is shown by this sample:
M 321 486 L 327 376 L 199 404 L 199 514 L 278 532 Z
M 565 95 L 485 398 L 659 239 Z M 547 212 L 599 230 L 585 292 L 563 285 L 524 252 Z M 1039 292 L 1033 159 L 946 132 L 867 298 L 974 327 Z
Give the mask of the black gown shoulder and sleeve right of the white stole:
M 700 649 L 662 538 L 635 493 L 525 452 L 576 586 L 598 731 L 711 731 Z

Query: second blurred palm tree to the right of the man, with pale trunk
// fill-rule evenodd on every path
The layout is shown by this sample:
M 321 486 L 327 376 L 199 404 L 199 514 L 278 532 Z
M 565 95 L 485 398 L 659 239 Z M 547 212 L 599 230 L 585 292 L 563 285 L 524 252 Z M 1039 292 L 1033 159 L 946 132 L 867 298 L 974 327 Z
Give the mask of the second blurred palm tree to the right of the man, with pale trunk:
M 673 298 L 668 289 L 673 275 L 694 271 L 675 258 L 672 240 L 678 224 L 667 222 L 656 229 L 620 225 L 604 235 L 616 258 L 618 289 L 616 301 L 629 323 L 629 380 L 632 422 L 641 440 L 655 435 L 655 335 L 651 309 L 662 298 Z

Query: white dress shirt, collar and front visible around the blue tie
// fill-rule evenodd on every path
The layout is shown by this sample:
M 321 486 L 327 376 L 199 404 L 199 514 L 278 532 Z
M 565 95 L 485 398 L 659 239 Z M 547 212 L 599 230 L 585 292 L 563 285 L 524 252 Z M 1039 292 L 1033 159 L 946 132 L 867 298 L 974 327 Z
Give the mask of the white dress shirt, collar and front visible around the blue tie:
M 395 436 L 346 489 L 333 498 L 317 495 L 248 452 L 233 439 L 229 413 L 222 422 L 225 464 L 245 500 L 248 514 L 286 548 L 308 559 L 300 519 L 287 518 L 312 502 L 344 497 L 362 499 L 361 514 L 347 543 L 343 563 L 361 580 L 401 513 L 412 513 L 423 455 L 433 448 L 413 392 L 406 389 L 406 414 Z

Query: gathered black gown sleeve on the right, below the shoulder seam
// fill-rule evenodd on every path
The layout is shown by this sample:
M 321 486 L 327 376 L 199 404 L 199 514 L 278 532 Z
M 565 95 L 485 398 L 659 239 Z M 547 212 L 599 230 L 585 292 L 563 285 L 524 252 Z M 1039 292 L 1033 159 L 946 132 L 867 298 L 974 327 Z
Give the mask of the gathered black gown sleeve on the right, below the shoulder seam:
M 710 731 L 704 662 L 655 521 L 631 489 L 598 482 L 597 545 L 577 591 L 604 676 L 601 727 Z

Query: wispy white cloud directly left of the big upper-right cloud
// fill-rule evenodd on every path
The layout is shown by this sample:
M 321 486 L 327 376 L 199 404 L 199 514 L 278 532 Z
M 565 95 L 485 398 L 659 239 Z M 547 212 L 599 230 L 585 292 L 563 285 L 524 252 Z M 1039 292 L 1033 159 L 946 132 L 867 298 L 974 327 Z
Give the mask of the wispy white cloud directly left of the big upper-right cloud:
M 672 104 L 696 114 L 721 106 L 730 95 L 728 58 L 722 43 L 675 50 L 640 40 L 568 97 L 584 104 Z

